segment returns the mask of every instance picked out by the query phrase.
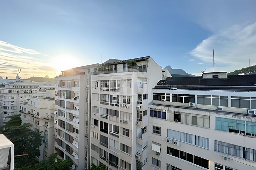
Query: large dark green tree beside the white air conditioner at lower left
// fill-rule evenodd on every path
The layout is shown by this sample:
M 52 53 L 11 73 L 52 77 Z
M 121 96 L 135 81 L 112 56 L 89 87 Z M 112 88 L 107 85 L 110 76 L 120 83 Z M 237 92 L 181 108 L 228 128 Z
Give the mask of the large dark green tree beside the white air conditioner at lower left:
M 17 115 L 10 118 L 11 120 L 6 125 L 0 127 L 0 133 L 4 134 L 14 144 L 14 155 L 28 154 L 27 156 L 15 157 L 14 167 L 30 166 L 38 163 L 42 136 L 40 133 L 30 130 L 31 124 L 16 126 L 17 123 L 14 122 L 20 122 L 20 118 L 17 120 Z

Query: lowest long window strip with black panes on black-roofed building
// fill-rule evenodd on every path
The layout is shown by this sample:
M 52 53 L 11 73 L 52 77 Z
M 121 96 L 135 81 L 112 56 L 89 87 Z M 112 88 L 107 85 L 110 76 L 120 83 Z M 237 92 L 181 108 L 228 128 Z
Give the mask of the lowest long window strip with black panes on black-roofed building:
M 181 159 L 184 159 L 184 160 L 186 160 L 188 162 L 191 162 L 193 164 L 202 166 L 203 168 L 210 169 L 209 160 L 201 158 L 199 156 L 192 155 L 190 153 L 186 153 L 184 151 L 174 149 L 174 148 L 171 148 L 171 147 L 168 147 L 168 146 L 167 146 L 167 154 L 171 155 L 171 156 L 181 158 Z

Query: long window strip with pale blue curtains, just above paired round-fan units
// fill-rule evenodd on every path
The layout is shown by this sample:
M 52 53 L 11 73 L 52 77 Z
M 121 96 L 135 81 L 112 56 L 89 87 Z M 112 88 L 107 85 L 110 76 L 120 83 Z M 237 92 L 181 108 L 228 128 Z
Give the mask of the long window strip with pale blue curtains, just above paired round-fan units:
M 182 142 L 186 142 L 192 145 L 210 149 L 210 139 L 197 136 L 194 134 L 184 133 L 181 131 L 167 129 L 167 137 Z

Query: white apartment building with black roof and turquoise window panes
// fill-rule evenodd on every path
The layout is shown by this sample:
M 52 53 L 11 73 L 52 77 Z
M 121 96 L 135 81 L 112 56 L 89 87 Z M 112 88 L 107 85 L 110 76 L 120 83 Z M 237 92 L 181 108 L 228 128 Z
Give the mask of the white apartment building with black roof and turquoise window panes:
M 148 108 L 148 169 L 254 170 L 256 75 L 167 78 Z

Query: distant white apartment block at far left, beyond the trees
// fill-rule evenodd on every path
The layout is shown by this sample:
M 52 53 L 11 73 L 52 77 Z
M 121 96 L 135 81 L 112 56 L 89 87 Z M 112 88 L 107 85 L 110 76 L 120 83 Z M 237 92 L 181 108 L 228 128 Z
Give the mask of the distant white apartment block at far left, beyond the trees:
M 43 90 L 40 91 L 40 88 Z M 54 83 L 32 82 L 30 80 L 0 79 L 0 114 L 17 115 L 21 104 L 30 98 L 44 98 L 46 89 L 54 88 Z

